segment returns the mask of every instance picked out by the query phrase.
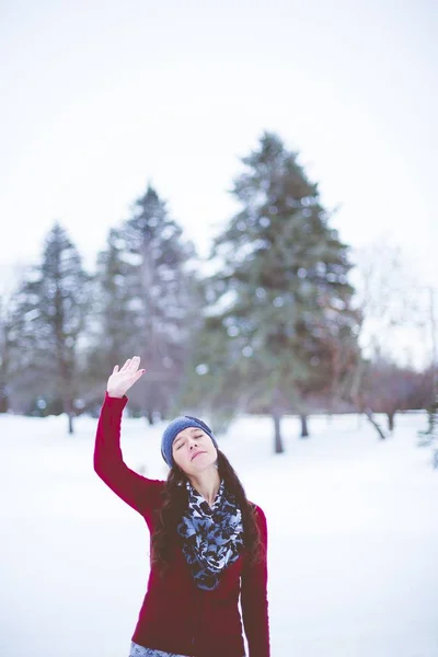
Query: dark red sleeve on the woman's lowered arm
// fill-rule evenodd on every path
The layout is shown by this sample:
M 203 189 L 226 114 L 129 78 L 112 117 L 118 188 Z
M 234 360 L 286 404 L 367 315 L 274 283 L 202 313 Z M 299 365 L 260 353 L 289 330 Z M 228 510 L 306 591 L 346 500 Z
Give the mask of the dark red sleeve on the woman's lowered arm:
M 242 570 L 241 607 L 250 657 L 269 657 L 269 619 L 267 602 L 267 525 L 257 507 L 257 522 L 263 558 Z

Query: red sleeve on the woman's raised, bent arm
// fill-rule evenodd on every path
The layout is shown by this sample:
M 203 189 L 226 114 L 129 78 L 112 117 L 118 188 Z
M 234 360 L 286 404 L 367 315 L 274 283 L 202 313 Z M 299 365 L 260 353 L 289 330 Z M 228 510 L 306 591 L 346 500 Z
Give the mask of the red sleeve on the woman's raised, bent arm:
M 94 471 L 101 480 L 136 511 L 148 525 L 152 511 L 160 504 L 164 482 L 150 480 L 130 470 L 120 449 L 122 414 L 128 397 L 111 397 L 105 392 L 94 445 Z

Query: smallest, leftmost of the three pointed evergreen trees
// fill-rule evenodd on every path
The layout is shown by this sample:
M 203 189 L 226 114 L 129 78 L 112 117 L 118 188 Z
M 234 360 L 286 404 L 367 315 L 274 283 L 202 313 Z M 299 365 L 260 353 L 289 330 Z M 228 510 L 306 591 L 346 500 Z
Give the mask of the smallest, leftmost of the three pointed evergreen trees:
M 42 263 L 31 268 L 14 296 L 11 348 L 15 379 L 31 397 L 59 397 L 73 433 L 78 343 L 85 327 L 89 276 L 59 223 L 48 233 Z

